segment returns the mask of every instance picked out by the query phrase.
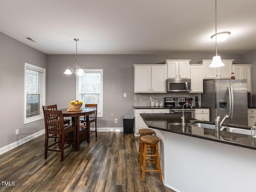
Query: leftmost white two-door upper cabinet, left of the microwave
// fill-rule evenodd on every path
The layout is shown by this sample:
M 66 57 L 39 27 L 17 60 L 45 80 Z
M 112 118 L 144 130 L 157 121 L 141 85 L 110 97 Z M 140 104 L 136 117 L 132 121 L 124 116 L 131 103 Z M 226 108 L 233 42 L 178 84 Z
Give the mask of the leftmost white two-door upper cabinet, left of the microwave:
M 134 65 L 134 92 L 166 92 L 166 78 L 166 64 Z

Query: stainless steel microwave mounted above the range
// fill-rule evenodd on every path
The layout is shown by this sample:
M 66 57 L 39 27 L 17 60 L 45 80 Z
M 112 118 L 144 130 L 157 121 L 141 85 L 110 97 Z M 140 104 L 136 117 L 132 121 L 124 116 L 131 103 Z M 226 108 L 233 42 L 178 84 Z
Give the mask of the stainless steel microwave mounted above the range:
M 167 92 L 190 92 L 191 79 L 167 79 Z

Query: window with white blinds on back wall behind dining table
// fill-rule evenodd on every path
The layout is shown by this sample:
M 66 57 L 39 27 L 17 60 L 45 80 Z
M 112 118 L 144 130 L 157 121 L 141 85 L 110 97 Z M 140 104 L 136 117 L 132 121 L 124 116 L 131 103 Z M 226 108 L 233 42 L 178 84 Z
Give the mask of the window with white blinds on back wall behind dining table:
M 76 98 L 84 104 L 98 104 L 97 116 L 103 117 L 103 69 L 84 69 L 76 76 Z

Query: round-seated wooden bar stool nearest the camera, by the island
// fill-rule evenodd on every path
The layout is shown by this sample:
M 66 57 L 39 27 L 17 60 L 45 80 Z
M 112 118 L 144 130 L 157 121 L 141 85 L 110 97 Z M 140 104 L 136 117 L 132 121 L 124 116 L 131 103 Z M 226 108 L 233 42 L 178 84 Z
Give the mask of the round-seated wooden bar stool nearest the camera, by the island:
M 140 158 L 140 170 L 142 171 L 142 182 L 145 181 L 146 172 L 159 172 L 160 181 L 163 181 L 162 170 L 160 166 L 160 157 L 158 152 L 158 142 L 160 139 L 153 135 L 144 135 L 140 138 L 142 141 L 142 151 Z M 147 153 L 147 151 L 149 151 Z M 147 158 L 150 157 L 150 158 Z M 155 170 L 146 170 L 147 163 L 154 163 Z

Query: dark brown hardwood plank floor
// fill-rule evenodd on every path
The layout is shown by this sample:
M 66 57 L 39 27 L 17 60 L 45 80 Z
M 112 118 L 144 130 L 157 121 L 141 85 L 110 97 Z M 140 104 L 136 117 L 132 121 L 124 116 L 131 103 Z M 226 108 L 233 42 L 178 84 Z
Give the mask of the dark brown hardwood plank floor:
M 44 135 L 0 155 L 0 191 L 13 192 L 174 192 L 147 172 L 142 182 L 138 164 L 138 137 L 123 132 L 98 132 L 80 151 L 70 146 L 48 152 Z

